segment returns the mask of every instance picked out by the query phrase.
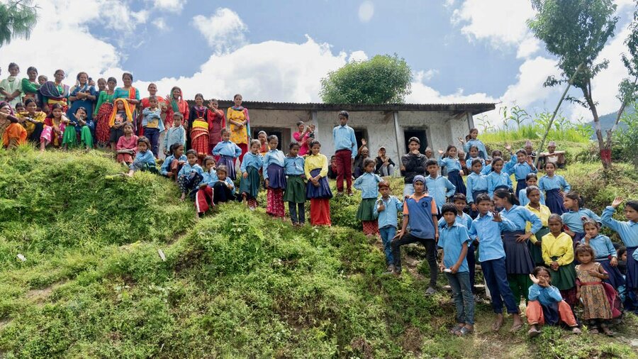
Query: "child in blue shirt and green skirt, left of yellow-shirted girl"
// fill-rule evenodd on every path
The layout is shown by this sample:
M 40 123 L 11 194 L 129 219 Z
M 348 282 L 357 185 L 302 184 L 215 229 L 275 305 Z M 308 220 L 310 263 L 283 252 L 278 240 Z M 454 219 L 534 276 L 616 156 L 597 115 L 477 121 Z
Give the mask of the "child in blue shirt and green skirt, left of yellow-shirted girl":
M 284 159 L 284 168 L 288 177 L 286 179 L 284 201 L 288 202 L 293 226 L 306 224 L 306 182 L 303 182 L 303 179 L 306 178 L 306 175 L 303 174 L 303 167 L 306 161 L 298 155 L 300 149 L 299 143 L 291 142 L 289 145 L 290 152 Z

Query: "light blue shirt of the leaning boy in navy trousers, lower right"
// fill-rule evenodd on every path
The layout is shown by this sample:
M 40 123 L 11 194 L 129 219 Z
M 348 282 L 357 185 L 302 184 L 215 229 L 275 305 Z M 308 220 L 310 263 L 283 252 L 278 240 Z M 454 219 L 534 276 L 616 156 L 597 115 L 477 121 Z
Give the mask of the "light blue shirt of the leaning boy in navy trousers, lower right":
M 478 239 L 478 259 L 481 262 L 505 258 L 503 238 L 500 235 L 503 231 L 514 231 L 515 228 L 514 223 L 504 216 L 500 217 L 501 222 L 495 222 L 493 219 L 491 212 L 484 216 L 479 214 L 472 221 L 472 227 L 469 230 L 470 237 L 475 241 Z

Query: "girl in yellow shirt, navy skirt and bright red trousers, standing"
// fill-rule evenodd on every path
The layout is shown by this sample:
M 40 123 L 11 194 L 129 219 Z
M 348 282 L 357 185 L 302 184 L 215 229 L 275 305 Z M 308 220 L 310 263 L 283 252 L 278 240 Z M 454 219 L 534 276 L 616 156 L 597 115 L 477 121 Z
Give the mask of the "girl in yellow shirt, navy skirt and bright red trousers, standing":
M 319 153 L 321 143 L 314 140 L 310 143 L 310 155 L 306 157 L 304 170 L 308 183 L 306 197 L 310 199 L 310 224 L 313 226 L 330 226 L 330 199 L 332 192 L 325 178 L 328 175 L 328 158 Z

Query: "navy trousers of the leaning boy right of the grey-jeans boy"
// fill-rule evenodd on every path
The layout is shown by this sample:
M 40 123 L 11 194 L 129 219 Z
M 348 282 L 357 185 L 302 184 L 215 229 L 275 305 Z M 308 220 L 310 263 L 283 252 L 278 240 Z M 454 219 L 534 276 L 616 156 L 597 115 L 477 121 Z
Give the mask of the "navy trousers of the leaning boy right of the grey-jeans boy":
M 494 313 L 503 313 L 503 300 L 505 300 L 508 313 L 518 314 L 518 303 L 514 300 L 514 294 L 512 294 L 508 282 L 508 273 L 505 270 L 505 257 L 485 260 L 481 262 L 481 268 L 485 282 L 490 289 Z

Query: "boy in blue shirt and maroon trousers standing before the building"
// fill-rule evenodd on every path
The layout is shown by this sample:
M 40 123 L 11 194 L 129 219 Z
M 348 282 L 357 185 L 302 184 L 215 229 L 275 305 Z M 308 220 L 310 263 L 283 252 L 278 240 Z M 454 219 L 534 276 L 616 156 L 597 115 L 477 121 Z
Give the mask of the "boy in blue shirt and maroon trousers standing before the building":
M 352 166 L 357 156 L 357 138 L 352 127 L 347 125 L 348 117 L 348 111 L 339 113 L 340 126 L 332 128 L 332 140 L 337 160 L 337 195 L 343 194 L 343 180 L 346 180 L 348 196 L 352 196 Z

